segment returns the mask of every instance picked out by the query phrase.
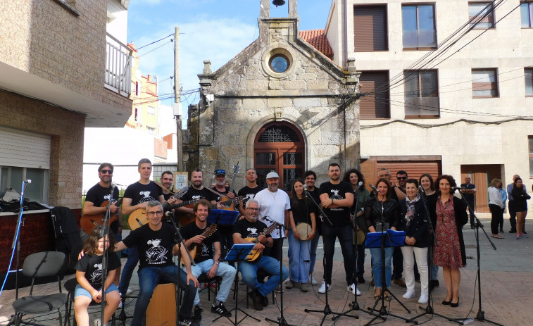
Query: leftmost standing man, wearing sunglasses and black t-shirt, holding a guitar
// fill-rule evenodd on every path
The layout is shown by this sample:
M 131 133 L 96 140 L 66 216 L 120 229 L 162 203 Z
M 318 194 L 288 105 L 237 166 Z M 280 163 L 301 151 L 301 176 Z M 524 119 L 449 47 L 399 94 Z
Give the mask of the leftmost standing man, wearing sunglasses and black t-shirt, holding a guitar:
M 105 214 L 107 211 L 107 206 L 100 207 L 104 201 L 111 201 L 111 203 L 118 201 L 118 188 L 113 189 L 113 196 L 111 196 L 111 181 L 113 181 L 113 164 L 111 163 L 101 163 L 98 168 L 98 177 L 100 182 L 95 184 L 91 189 L 87 191 L 85 195 L 85 201 L 83 203 L 83 213 L 88 215 L 94 214 Z M 109 211 L 111 214 L 118 214 L 119 217 L 119 208 L 113 204 L 109 206 Z M 117 241 L 122 239 L 122 218 L 118 218 L 109 226 L 113 236 Z M 89 232 L 90 233 L 90 232 Z M 120 256 L 119 256 L 120 258 Z M 120 266 L 118 271 L 115 273 L 115 283 L 118 286 L 118 280 L 120 279 Z

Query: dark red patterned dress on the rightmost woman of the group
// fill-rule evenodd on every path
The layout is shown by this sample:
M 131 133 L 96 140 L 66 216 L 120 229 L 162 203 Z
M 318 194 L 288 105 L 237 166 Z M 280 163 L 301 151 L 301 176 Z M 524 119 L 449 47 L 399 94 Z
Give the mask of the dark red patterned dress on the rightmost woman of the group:
M 446 203 L 442 203 L 441 196 L 437 199 L 437 227 L 435 229 L 439 246 L 434 248 L 434 264 L 451 268 L 465 267 L 460 253 L 453 197 L 450 197 Z

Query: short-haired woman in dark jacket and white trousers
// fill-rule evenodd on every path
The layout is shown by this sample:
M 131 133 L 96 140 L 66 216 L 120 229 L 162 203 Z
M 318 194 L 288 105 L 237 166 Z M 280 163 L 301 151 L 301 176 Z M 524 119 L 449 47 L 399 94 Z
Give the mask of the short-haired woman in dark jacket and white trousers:
M 420 272 L 420 299 L 418 303 L 425 304 L 428 299 L 427 277 L 427 212 L 422 202 L 422 195 L 418 193 L 418 181 L 408 179 L 406 182 L 406 199 L 399 202 L 400 223 L 399 230 L 406 231 L 405 244 L 401 247 L 403 255 L 403 276 L 406 277 L 406 294 L 403 299 L 415 297 L 415 260 Z

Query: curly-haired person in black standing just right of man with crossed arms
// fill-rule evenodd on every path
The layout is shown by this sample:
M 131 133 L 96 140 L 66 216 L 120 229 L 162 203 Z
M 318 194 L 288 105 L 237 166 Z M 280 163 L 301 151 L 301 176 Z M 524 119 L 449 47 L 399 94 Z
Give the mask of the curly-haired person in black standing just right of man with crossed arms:
M 348 170 L 342 181 L 351 184 L 353 190 L 353 206 L 350 210 L 350 216 L 355 219 L 356 225 L 356 230 L 353 230 L 353 252 L 356 253 L 357 282 L 363 284 L 365 282 L 365 277 L 363 277 L 365 274 L 365 235 L 368 233 L 363 208 L 370 197 L 370 192 L 365 188 L 365 177 L 359 170 Z

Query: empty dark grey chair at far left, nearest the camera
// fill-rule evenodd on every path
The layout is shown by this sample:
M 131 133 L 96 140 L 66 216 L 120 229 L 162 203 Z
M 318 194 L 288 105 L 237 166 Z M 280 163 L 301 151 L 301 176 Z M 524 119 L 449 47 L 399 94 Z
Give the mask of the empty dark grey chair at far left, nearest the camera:
M 30 295 L 19 298 L 13 302 L 15 310 L 15 326 L 20 323 L 37 325 L 31 322 L 23 322 L 23 315 L 39 315 L 51 313 L 57 310 L 59 315 L 59 325 L 63 323 L 61 318 L 61 307 L 67 302 L 67 295 L 61 293 L 61 279 L 58 275 L 59 270 L 65 261 L 65 253 L 58 251 L 43 251 L 32 253 L 27 256 L 23 265 L 23 275 L 32 278 Z M 33 285 L 38 277 L 56 276 L 58 280 L 59 293 L 48 294 L 45 296 L 34 296 Z

